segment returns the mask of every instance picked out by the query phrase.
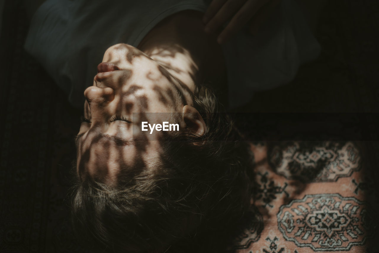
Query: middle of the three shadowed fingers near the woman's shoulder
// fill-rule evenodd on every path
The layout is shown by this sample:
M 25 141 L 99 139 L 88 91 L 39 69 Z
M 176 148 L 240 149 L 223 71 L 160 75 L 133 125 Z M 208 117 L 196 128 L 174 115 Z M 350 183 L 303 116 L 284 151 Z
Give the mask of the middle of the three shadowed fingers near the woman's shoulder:
M 228 21 L 240 8 L 246 0 L 229 0 L 216 15 L 205 26 L 205 31 L 213 33 L 218 30 L 226 21 Z

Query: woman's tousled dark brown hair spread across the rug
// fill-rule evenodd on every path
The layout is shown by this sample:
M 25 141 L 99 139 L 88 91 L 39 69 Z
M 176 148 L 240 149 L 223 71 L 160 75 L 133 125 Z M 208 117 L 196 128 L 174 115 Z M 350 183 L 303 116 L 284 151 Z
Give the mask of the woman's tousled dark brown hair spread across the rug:
M 75 177 L 72 225 L 83 244 L 97 252 L 225 250 L 250 206 L 252 157 L 210 89 L 199 87 L 194 107 L 207 131 L 163 141 L 158 168 L 120 174 L 117 185 Z

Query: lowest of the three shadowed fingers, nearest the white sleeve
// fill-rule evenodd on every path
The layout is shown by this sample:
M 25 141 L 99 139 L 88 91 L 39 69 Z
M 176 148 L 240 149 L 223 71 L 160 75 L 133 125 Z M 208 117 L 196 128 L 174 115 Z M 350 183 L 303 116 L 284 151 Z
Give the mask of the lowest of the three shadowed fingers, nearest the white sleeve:
M 217 42 L 222 44 L 227 41 L 233 34 L 237 33 L 246 23 L 254 16 L 255 13 L 264 5 L 267 1 L 249 0 L 237 14 L 230 20 L 227 27 L 221 32 L 217 38 Z

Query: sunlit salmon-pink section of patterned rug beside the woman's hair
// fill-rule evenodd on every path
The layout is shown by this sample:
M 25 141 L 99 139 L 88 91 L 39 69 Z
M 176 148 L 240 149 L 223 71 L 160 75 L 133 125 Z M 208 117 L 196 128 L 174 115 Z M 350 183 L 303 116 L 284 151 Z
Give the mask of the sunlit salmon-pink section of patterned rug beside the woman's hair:
M 252 146 L 256 189 L 236 252 L 377 252 L 378 195 L 360 145 L 287 141 Z

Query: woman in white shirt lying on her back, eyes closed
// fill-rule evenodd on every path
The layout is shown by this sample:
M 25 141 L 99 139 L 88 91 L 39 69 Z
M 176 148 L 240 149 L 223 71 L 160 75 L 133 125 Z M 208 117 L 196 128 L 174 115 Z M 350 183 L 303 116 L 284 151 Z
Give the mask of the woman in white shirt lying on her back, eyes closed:
M 81 103 L 78 91 L 85 88 L 72 220 L 77 236 L 92 250 L 224 250 L 250 205 L 247 144 L 240 141 L 229 116 L 220 113 L 213 92 L 200 85 L 211 84 L 227 101 L 226 72 L 229 81 L 242 80 L 235 66 L 226 68 L 234 51 L 224 48 L 223 53 L 214 35 L 204 33 L 205 3 L 173 2 L 151 1 L 147 8 L 146 3 L 121 1 L 112 8 L 105 2 L 51 1 L 38 9 L 31 23 L 28 52 L 69 94 L 72 104 Z M 100 15 L 104 10 L 106 15 Z M 282 13 L 283 7 L 277 11 Z M 257 36 L 258 44 L 268 41 L 269 47 L 259 50 L 258 45 L 250 53 L 271 52 L 279 42 L 269 38 L 276 34 Z M 241 38 L 245 33 L 238 36 L 242 42 L 251 39 Z M 114 45 L 120 41 L 136 47 Z M 233 43 L 229 47 L 235 48 Z M 292 74 L 293 66 L 316 51 L 312 43 L 307 45 L 292 52 L 297 59 Z M 99 52 L 105 49 L 101 60 Z M 251 64 L 270 61 L 255 58 Z M 97 74 L 92 72 L 94 64 Z M 279 77 L 281 82 L 286 78 Z M 92 86 L 86 88 L 88 80 Z M 273 78 L 263 84 L 281 82 Z M 228 85 L 232 106 L 246 102 L 254 89 L 247 86 L 241 93 L 247 85 L 242 81 L 238 89 Z M 178 124 L 179 131 L 150 135 L 142 131 L 143 122 Z

